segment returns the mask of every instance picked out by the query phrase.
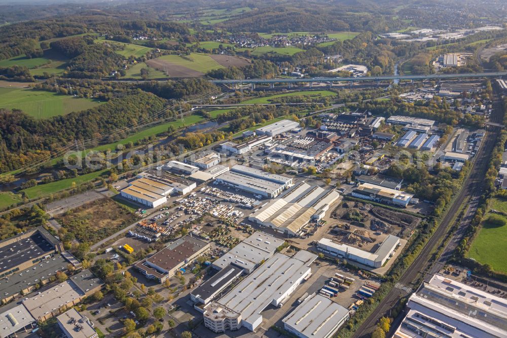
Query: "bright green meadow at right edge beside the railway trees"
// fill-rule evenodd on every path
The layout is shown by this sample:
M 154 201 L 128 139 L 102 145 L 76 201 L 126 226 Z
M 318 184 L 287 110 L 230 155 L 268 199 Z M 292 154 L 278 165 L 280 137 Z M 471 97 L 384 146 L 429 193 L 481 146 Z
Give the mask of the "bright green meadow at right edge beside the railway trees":
M 504 207 L 505 208 L 505 207 Z M 506 217 L 501 216 L 507 221 Z M 466 256 L 481 264 L 489 264 L 500 273 L 507 274 L 505 250 L 507 249 L 507 225 L 494 226 L 484 221 Z

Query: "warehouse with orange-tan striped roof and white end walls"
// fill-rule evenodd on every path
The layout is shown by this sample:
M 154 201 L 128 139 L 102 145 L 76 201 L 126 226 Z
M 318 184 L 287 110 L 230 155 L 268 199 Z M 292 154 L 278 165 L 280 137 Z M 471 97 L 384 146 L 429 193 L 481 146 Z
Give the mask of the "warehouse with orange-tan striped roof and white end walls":
M 148 208 L 164 204 L 172 193 L 186 195 L 197 187 L 195 182 L 170 176 L 163 170 L 147 170 L 137 178 L 122 189 L 120 195 Z

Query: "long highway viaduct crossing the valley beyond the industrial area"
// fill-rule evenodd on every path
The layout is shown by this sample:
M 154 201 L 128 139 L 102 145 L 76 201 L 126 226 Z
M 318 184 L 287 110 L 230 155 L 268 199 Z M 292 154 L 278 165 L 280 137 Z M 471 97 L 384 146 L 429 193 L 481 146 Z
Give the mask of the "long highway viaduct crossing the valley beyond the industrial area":
M 357 78 L 298 78 L 298 79 L 244 79 L 244 80 L 210 80 L 214 84 L 270 84 L 275 83 L 315 83 L 315 82 L 359 82 L 359 81 L 393 81 L 393 80 L 445 80 L 445 79 L 464 79 L 464 78 L 500 78 L 507 76 L 507 72 L 491 73 L 465 73 L 465 74 L 431 74 L 431 75 L 397 75 L 397 76 L 364 76 Z

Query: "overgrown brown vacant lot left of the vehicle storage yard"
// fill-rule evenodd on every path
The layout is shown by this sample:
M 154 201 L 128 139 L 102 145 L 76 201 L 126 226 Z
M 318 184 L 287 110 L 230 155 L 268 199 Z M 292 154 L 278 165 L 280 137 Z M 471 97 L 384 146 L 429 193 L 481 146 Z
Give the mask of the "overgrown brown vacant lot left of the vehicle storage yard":
M 58 223 L 82 243 L 97 243 L 135 221 L 130 210 L 110 198 L 89 202 L 58 218 Z

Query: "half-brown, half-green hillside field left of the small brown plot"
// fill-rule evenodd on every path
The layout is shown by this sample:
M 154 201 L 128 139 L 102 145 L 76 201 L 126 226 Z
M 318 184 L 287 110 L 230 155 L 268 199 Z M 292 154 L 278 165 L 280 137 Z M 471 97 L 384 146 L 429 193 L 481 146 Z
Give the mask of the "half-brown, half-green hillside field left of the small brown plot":
M 165 72 L 169 77 L 200 77 L 205 73 L 223 66 L 207 54 L 164 55 L 146 61 L 151 67 Z

